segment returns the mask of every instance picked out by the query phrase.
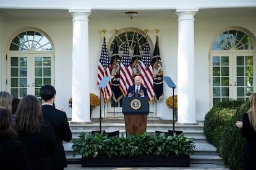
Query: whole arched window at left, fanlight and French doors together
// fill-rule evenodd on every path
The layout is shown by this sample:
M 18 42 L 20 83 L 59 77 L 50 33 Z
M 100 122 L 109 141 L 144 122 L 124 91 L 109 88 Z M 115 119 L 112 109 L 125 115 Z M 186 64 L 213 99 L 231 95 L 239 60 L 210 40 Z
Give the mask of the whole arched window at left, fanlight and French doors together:
M 7 89 L 12 96 L 22 99 L 33 94 L 40 98 L 40 87 L 54 83 L 53 44 L 35 28 L 20 30 L 10 41 L 7 65 Z

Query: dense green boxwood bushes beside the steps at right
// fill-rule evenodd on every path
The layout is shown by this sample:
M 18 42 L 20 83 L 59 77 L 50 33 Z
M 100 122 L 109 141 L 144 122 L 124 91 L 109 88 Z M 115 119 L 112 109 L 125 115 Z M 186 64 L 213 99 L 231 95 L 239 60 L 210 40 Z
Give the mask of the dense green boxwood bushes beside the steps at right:
M 249 102 L 236 100 L 218 103 L 207 115 L 203 130 L 210 144 L 214 145 L 224 164 L 230 169 L 242 169 L 242 155 L 245 139 L 236 121 L 242 121 L 242 115 L 249 109 Z

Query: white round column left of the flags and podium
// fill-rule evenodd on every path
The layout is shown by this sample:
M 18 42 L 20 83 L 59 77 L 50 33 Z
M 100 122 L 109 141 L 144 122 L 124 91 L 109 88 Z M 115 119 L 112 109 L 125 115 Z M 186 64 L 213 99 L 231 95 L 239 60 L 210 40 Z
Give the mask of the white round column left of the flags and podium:
M 69 10 L 73 19 L 72 123 L 90 120 L 89 37 L 90 10 Z

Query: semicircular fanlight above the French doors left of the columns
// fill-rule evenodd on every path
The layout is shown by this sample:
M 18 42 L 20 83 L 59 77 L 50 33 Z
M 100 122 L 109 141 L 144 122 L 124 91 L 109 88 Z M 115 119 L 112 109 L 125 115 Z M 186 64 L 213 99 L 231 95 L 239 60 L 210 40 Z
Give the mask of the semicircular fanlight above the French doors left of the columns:
M 53 51 L 51 42 L 43 33 L 29 30 L 17 34 L 12 39 L 10 51 Z

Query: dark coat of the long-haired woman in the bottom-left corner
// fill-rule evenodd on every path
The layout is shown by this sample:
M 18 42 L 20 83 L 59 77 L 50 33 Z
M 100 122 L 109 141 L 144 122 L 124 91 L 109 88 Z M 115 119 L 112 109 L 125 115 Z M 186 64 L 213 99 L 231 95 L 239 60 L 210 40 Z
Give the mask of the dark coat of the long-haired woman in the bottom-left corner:
M 1 169 L 32 169 L 25 146 L 16 139 L 0 139 Z

